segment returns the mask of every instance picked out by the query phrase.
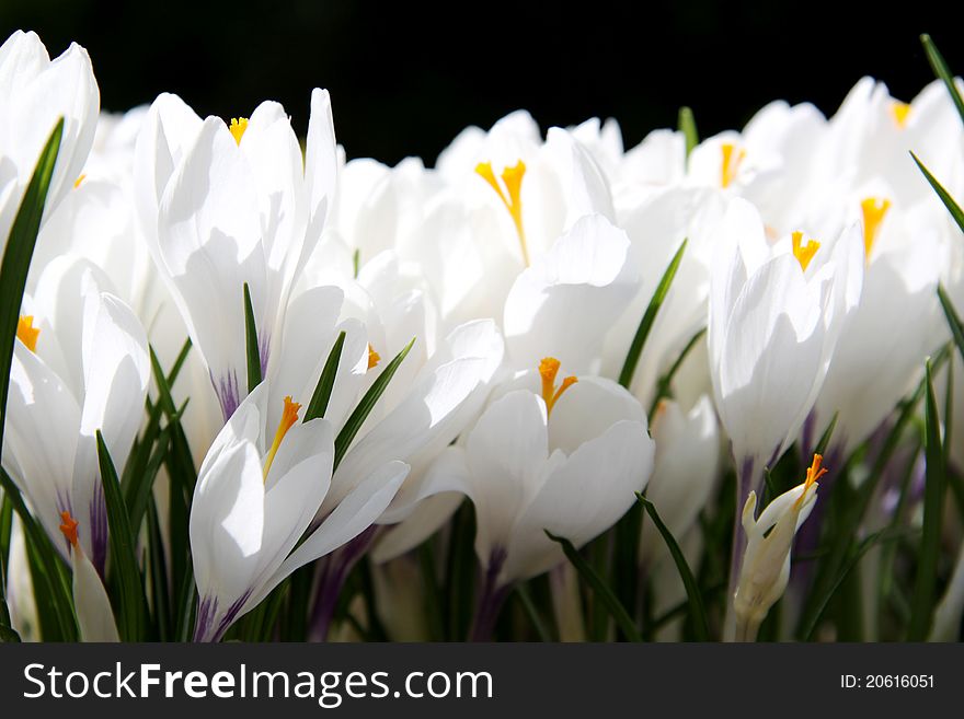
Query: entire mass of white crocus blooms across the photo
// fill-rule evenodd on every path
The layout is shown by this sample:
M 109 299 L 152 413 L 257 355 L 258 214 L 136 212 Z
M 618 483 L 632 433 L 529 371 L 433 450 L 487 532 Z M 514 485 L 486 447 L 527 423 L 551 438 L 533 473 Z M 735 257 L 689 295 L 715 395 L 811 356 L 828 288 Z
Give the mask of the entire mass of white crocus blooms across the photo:
M 565 561 L 547 531 L 579 548 L 638 492 L 691 544 L 730 451 L 744 637 L 783 594 L 822 474 L 816 457 L 755 519 L 765 468 L 794 444 L 812 456 L 836 417 L 833 475 L 948 343 L 938 285 L 964 306 L 964 241 L 909 154 L 964 196 L 961 118 L 937 82 L 904 104 L 863 79 L 829 118 L 774 102 L 695 147 L 656 130 L 624 150 L 597 119 L 543 138 L 517 112 L 462 131 L 435 167 L 346 161 L 324 90 L 303 142 L 275 102 L 227 119 L 172 94 L 99 107 L 82 48 L 51 61 L 20 32 L 0 47 L 0 250 L 65 118 L 2 466 L 72 563 L 88 639 L 117 637 L 95 433 L 123 468 L 157 396 L 151 350 L 167 369 L 192 343 L 172 395 L 190 398 L 198 467 L 197 640 L 322 558 L 323 635 L 359 556 L 401 556 L 466 498 L 493 605 Z M 641 571 L 666 564 L 652 523 L 639 542 Z

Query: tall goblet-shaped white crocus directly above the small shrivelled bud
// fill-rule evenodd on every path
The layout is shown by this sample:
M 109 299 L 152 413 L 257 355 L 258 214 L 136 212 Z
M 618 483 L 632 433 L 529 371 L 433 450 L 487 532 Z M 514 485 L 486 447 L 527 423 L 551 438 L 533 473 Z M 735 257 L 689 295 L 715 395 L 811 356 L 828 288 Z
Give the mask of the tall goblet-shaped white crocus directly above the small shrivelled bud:
M 794 232 L 772 250 L 759 214 L 734 199 L 711 277 L 708 346 L 739 496 L 790 447 L 813 407 L 844 321 L 860 297 L 853 225 L 830 246 Z

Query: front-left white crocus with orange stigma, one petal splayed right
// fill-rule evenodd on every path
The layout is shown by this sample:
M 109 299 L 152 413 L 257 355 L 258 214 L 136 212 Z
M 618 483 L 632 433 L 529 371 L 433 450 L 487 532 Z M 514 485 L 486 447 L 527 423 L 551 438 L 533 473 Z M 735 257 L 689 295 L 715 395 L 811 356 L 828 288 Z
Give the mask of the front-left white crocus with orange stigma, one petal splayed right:
M 325 419 L 299 422 L 301 405 L 291 397 L 269 428 L 269 398 L 265 381 L 221 429 L 198 473 L 191 509 L 197 641 L 219 639 L 298 567 L 367 530 L 409 471 L 402 462 L 380 467 L 298 545 L 329 495 L 334 432 Z

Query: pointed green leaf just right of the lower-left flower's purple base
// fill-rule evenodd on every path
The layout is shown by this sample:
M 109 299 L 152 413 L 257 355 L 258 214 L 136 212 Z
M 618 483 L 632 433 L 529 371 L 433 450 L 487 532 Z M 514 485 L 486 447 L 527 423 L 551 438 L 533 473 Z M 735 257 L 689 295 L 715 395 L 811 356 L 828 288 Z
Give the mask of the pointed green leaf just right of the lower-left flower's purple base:
M 117 629 L 125 641 L 138 641 L 144 639 L 147 600 L 137 564 L 137 542 L 130 529 L 130 518 L 120 494 L 120 483 L 117 479 L 114 461 L 100 430 L 96 432 L 96 439 L 101 484 L 107 505 L 111 561 L 120 594 L 119 607 L 115 608 L 115 613 L 119 614 Z

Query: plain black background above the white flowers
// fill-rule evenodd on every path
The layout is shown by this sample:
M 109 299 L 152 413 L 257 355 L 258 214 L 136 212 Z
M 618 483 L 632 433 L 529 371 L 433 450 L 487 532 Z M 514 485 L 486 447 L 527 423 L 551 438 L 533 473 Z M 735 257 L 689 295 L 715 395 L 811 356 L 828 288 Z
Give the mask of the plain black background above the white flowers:
M 165 90 L 222 117 L 273 98 L 303 132 L 328 88 L 349 156 L 431 163 L 519 107 L 543 128 L 616 117 L 629 148 L 684 104 L 709 136 L 773 98 L 831 113 L 863 74 L 909 101 L 932 78 L 921 32 L 964 73 L 961 3 L 939 4 L 0 0 L 0 36 L 35 30 L 51 55 L 76 39 L 113 111 Z

